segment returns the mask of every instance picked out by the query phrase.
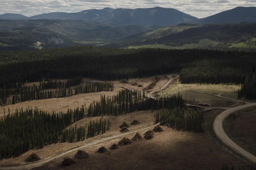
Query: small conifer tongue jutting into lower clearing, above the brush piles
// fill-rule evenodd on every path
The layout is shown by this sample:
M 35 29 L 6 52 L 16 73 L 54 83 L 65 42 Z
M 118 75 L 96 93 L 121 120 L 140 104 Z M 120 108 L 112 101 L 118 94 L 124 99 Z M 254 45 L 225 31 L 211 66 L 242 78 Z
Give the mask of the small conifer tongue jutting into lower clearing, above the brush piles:
M 90 121 L 90 124 L 88 124 L 88 126 L 85 124 L 85 127 L 81 125 L 77 127 L 75 125 L 75 127 L 63 130 L 60 141 L 70 143 L 84 141 L 85 138 L 100 135 L 110 130 L 110 124 L 109 119 L 107 123 L 106 119 L 104 119 L 104 121 L 100 119 L 99 121 L 96 120 L 96 122 L 94 120 Z

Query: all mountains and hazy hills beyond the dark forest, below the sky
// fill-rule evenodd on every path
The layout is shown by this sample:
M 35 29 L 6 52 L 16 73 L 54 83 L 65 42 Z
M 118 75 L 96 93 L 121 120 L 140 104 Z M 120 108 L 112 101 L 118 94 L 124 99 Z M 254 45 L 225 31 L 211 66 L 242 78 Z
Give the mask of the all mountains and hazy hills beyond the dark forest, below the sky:
M 254 22 L 256 7 L 236 7 L 201 19 L 161 7 L 104 8 L 32 17 L 6 13 L 0 15 L 0 50 L 74 45 L 179 47 L 200 42 L 207 46 L 218 43 L 251 46 L 256 42 Z

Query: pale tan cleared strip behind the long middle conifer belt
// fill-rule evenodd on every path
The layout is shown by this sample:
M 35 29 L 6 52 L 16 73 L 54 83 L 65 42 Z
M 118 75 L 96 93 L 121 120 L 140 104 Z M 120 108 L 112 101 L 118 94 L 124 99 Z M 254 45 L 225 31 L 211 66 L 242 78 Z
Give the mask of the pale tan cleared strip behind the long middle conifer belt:
M 117 85 L 123 85 L 127 86 L 130 89 L 139 89 L 143 90 L 144 86 L 147 86 L 152 83 L 156 76 L 153 77 L 147 77 L 142 79 L 131 79 L 128 81 L 128 83 L 119 83 L 119 81 L 113 81 L 114 84 Z M 164 86 L 164 84 L 169 80 L 165 78 L 164 76 L 158 76 L 160 78 L 160 81 L 157 83 L 157 85 L 154 87 L 154 89 L 158 89 L 159 86 Z M 62 80 L 64 81 L 64 80 Z M 103 82 L 96 79 L 89 79 L 84 78 L 84 83 L 92 83 L 92 82 Z M 138 84 L 142 84 L 143 87 L 138 86 L 132 86 L 132 82 L 138 82 Z M 100 100 L 100 95 L 115 95 L 119 90 L 122 90 L 123 88 L 120 86 L 114 85 L 114 91 L 107 91 L 107 92 L 97 92 L 97 93 L 88 93 L 88 94 L 78 94 L 70 97 L 65 98 L 50 98 L 50 99 L 44 99 L 44 100 L 33 100 L 33 101 L 26 101 L 16 104 L 10 104 L 6 106 L 0 107 L 0 117 L 4 116 L 4 110 L 5 114 L 8 113 L 8 109 L 10 109 L 10 113 L 15 112 L 16 109 L 26 109 L 26 108 L 38 108 L 42 109 L 47 112 L 66 112 L 68 108 L 76 108 L 76 107 L 86 107 L 89 106 L 90 103 L 94 101 Z M 154 90 L 152 89 L 152 90 Z

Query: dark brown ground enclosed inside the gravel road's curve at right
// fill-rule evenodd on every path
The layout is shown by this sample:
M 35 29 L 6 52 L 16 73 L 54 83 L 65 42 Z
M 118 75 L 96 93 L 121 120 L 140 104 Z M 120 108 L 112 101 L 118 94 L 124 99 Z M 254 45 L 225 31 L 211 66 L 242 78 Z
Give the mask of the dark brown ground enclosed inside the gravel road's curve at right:
M 239 146 L 256 154 L 256 108 L 244 109 L 231 114 L 224 121 L 228 136 Z

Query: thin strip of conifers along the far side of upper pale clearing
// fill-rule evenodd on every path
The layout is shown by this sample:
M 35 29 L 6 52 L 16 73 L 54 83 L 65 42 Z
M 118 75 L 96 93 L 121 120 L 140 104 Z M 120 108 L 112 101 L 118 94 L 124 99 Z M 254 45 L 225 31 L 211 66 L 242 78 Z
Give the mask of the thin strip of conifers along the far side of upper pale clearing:
M 73 80 L 73 79 L 72 79 Z M 79 84 L 74 87 L 75 81 L 68 80 L 40 82 L 39 85 L 33 84 L 28 86 L 16 87 L 15 89 L 0 89 L 0 105 L 15 104 L 28 100 L 39 100 L 46 98 L 69 97 L 76 94 L 113 91 L 113 83 L 89 83 Z M 80 81 L 77 81 L 79 83 Z M 56 89 L 54 89 L 56 88 Z

